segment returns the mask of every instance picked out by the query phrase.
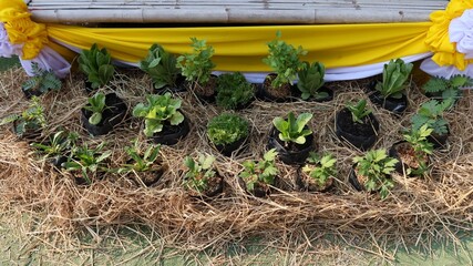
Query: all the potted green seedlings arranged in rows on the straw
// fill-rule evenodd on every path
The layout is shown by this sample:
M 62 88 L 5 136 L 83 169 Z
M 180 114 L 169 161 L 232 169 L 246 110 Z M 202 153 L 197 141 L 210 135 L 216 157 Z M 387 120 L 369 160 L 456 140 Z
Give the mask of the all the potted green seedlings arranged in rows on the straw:
M 162 47 L 155 44 L 150 49 L 146 59 L 140 64 L 140 68 L 152 78 L 155 92 L 162 95 L 146 95 L 146 103 L 137 104 L 133 110 L 133 115 L 144 117 L 145 135 L 153 137 L 157 143 L 173 145 L 181 137 L 184 137 L 189 130 L 186 116 L 179 111 L 181 101 L 173 98 L 169 92 L 176 93 L 191 90 L 204 102 L 216 101 L 218 105 L 225 109 L 236 110 L 248 106 L 255 94 L 259 94 L 264 100 L 276 102 L 287 101 L 294 95 L 300 95 L 304 100 L 317 101 L 332 98 L 332 92 L 323 88 L 323 65 L 319 62 L 312 64 L 300 62 L 299 57 L 305 55 L 307 52 L 301 47 L 295 49 L 292 45 L 285 43 L 280 40 L 279 32 L 277 33 L 277 39 L 268 43 L 269 55 L 264 60 L 276 71 L 276 74 L 268 75 L 265 81 L 266 86 L 256 92 L 254 84 L 246 82 L 240 73 L 222 74 L 218 78 L 212 75 L 212 69 L 215 66 L 210 61 L 214 53 L 213 48 L 206 45 L 205 40 L 199 41 L 193 38 L 192 41 L 192 47 L 194 48 L 194 53 L 192 54 L 175 58 L 164 51 Z M 81 70 L 88 75 L 89 93 L 106 85 L 113 78 L 114 66 L 111 63 L 111 57 L 106 49 L 99 50 L 96 44 L 91 50 L 82 51 L 79 63 Z M 373 82 L 370 85 L 368 98 L 374 104 L 395 114 L 402 113 L 407 108 L 404 91 L 411 70 L 412 64 L 405 64 L 400 59 L 391 60 L 384 65 L 382 81 Z M 49 81 L 52 80 L 51 78 L 39 79 L 45 75 L 47 71 L 42 71 L 33 78 L 34 82 L 28 81 L 31 84 L 23 85 L 23 88 L 29 88 L 28 90 L 23 89 L 23 91 L 30 91 L 32 95 L 38 95 L 48 90 L 56 90 L 52 85 L 44 85 L 54 83 Z M 292 82 L 297 76 L 299 78 L 298 90 L 295 91 L 296 86 L 292 85 Z M 184 80 L 188 82 L 186 85 L 183 85 Z M 412 117 L 411 131 L 404 135 L 407 142 L 397 143 L 389 153 L 384 150 L 368 151 L 377 141 L 379 122 L 371 110 L 367 109 L 367 101 L 360 100 L 357 103 L 347 103 L 346 108 L 340 110 L 336 116 L 336 133 L 341 140 L 351 143 L 361 151 L 368 151 L 363 157 L 353 160 L 356 166 L 353 166 L 353 171 L 350 174 L 350 183 L 357 190 L 363 186 L 369 191 L 381 190 L 381 195 L 384 197 L 387 191 L 392 186 L 392 181 L 388 177 L 392 170 L 402 171 L 408 175 L 419 175 L 426 171 L 429 165 L 428 155 L 432 152 L 432 144 L 429 141 L 433 142 L 435 146 L 442 146 L 444 145 L 444 140 L 446 140 L 444 135 L 449 132 L 446 121 L 442 116 L 443 112 L 452 108 L 460 95 L 460 88 L 471 83 L 472 80 L 470 78 L 462 75 L 456 75 L 449 80 L 432 78 L 423 86 L 423 90 L 429 96 L 435 99 L 422 104 L 418 113 Z M 212 89 L 213 86 L 216 86 L 216 89 Z M 34 91 L 40 91 L 41 93 L 34 93 Z M 82 110 L 82 123 L 92 135 L 106 134 L 127 115 L 126 104 L 114 93 L 95 93 L 88 99 L 88 102 L 89 104 Z M 45 126 L 42 112 L 43 110 L 38 99 L 33 96 L 32 104 L 28 110 L 21 115 L 6 117 L 1 124 L 12 122 L 17 134 L 28 137 L 28 130 L 38 133 Z M 268 140 L 269 151 L 260 161 L 244 163 L 245 171 L 240 174 L 240 177 L 245 183 L 245 190 L 255 195 L 267 195 L 268 187 L 274 185 L 274 181 L 277 177 L 278 171 L 274 162 L 275 157 L 278 156 L 284 163 L 306 164 L 299 170 L 299 173 L 305 173 L 301 176 L 306 176 L 298 178 L 299 187 L 306 187 L 307 190 L 309 187 L 318 187 L 316 191 L 326 191 L 327 182 L 330 183 L 331 180 L 329 177 L 335 175 L 336 158 L 330 154 L 319 157 L 312 153 L 315 150 L 313 134 L 307 126 L 311 114 L 309 113 L 302 113 L 296 117 L 290 112 L 287 119 L 276 117 L 274 120 L 274 127 Z M 230 155 L 235 150 L 243 149 L 248 134 L 247 121 L 237 114 L 230 113 L 214 117 L 207 127 L 207 136 L 210 143 L 225 155 Z M 59 136 L 54 135 L 54 137 Z M 54 144 L 54 137 L 51 141 L 51 145 Z M 73 141 L 62 141 L 60 144 L 72 145 L 72 143 Z M 43 145 L 41 147 L 41 145 L 43 144 L 37 144 L 35 146 L 42 150 L 48 146 Z M 110 152 L 102 152 L 103 144 L 94 149 L 90 149 L 86 145 L 82 147 L 72 146 L 74 149 L 69 147 L 71 151 L 69 152 L 69 158 L 60 165 L 71 171 L 80 171 L 82 178 L 90 183 L 92 180 L 88 177 L 88 171 L 96 171 L 97 165 L 110 156 Z M 136 168 L 150 170 L 157 158 L 158 147 L 152 146 L 150 149 L 144 153 L 143 157 L 140 156 L 136 149 L 134 153 L 132 152 L 133 149 L 127 149 L 126 151 L 132 157 L 131 161 L 134 162 L 128 163 L 128 167 L 134 165 L 134 171 L 137 171 Z M 411 155 L 411 157 L 405 154 Z M 413 163 L 409 163 L 411 161 Z M 204 177 L 206 175 L 207 177 L 215 175 L 215 171 L 212 170 L 212 163 L 213 160 L 208 157 L 202 157 L 198 161 L 186 158 L 185 164 L 189 168 L 186 176 L 194 175 L 196 178 L 187 184 L 202 185 L 208 183 Z M 312 171 L 309 171 L 310 168 Z M 205 171 L 206 174 L 191 174 L 191 172 L 200 173 L 202 171 Z M 119 172 L 124 172 L 124 170 Z M 308 184 L 307 182 L 311 181 L 311 178 L 307 176 L 320 178 L 316 182 L 318 185 Z M 352 178 L 352 176 L 358 176 L 358 178 Z M 304 184 L 301 181 L 306 181 L 306 183 Z M 145 183 L 151 184 L 148 182 Z M 200 187 L 200 185 L 196 185 L 194 188 Z M 200 187 L 196 188 L 196 191 L 203 192 L 205 190 Z

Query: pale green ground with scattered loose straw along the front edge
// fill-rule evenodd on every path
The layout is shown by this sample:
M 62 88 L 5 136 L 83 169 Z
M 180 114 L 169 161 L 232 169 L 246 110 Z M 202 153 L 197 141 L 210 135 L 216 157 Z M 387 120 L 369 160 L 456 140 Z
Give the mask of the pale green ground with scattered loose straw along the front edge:
M 0 69 L 14 65 L 16 60 L 0 61 Z M 420 238 L 418 245 L 397 248 L 399 245 L 373 250 L 373 243 L 357 243 L 340 236 L 321 236 L 313 246 L 317 250 L 298 249 L 300 243 L 287 248 L 270 245 L 258 238 L 230 243 L 220 248 L 183 250 L 168 245 L 156 232 L 146 226 L 88 227 L 63 238 L 48 238 L 47 232 L 37 231 L 41 221 L 35 215 L 19 213 L 14 206 L 0 216 L 1 265 L 472 265 L 473 236 L 463 232 L 456 245 L 433 243 L 438 236 Z M 260 244 L 265 243 L 265 244 Z M 353 246 L 353 243 L 359 245 Z M 363 249 L 363 245 L 367 248 Z M 306 245 L 305 245 L 306 246 Z M 369 247 L 368 247 L 369 246 Z

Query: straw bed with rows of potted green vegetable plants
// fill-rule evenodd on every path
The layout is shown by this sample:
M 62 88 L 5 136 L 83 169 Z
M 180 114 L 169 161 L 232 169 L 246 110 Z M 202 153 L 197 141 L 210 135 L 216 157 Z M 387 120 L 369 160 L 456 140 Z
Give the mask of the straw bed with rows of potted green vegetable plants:
M 455 82 L 455 93 L 429 99 L 397 59 L 382 81 L 325 90 L 322 62 L 300 60 L 302 48 L 280 38 L 265 60 L 277 75 L 264 94 L 275 94 L 263 98 L 239 72 L 212 78 L 213 48 L 196 38 L 188 54 L 153 45 L 141 70 L 112 69 L 106 48 L 84 50 L 90 94 L 73 73 L 60 91 L 27 100 L 19 88 L 30 78 L 9 70 L 1 82 L 20 78 L 0 99 L 0 200 L 48 208 L 53 228 L 137 222 L 204 246 L 299 225 L 357 237 L 470 226 L 470 91 L 450 96 Z M 188 90 L 174 90 L 179 75 Z M 446 80 L 426 86 L 434 82 Z

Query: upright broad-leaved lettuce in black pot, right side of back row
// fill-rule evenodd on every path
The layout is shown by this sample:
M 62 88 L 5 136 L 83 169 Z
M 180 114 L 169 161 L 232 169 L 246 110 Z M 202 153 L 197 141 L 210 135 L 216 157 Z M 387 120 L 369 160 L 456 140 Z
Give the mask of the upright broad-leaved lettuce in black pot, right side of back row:
M 373 82 L 370 85 L 371 102 L 397 114 L 404 112 L 408 108 L 405 83 L 411 75 L 412 66 L 412 63 L 404 63 L 402 59 L 391 60 L 384 64 L 382 82 Z

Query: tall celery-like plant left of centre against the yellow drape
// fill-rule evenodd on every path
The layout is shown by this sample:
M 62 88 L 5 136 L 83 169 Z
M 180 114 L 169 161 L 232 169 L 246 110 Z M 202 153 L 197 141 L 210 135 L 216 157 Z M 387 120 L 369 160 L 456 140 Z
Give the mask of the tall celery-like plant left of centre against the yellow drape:
M 187 81 L 206 84 L 210 80 L 212 70 L 215 63 L 212 62 L 212 57 L 215 50 L 212 45 L 206 44 L 206 40 L 197 40 L 191 38 L 191 47 L 193 53 L 183 54 L 177 58 L 177 68 L 181 69 Z

